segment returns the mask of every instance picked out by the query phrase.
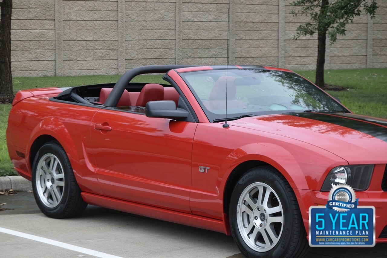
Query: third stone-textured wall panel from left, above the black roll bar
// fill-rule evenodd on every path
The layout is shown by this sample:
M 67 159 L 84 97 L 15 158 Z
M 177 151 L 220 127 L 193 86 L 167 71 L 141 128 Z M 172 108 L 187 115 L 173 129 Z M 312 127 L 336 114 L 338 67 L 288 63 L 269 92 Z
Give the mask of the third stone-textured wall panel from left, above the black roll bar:
M 125 69 L 176 62 L 176 1 L 125 0 Z

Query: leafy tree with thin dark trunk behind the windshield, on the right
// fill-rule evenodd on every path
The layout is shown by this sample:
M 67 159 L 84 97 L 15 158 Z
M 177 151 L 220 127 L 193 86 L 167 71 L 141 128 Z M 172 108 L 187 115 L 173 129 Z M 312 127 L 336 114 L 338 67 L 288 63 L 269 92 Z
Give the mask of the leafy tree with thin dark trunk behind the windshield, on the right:
M 369 3 L 368 3 L 369 2 Z M 355 16 L 361 14 L 363 9 L 366 14 L 375 17 L 377 7 L 376 0 L 299 0 L 290 3 L 293 6 L 302 7 L 300 12 L 291 11 L 293 15 L 310 16 L 311 22 L 305 22 L 297 28 L 294 39 L 301 36 L 312 36 L 317 33 L 317 66 L 316 84 L 324 88 L 324 64 L 325 41 L 328 37 L 330 44 L 336 42 L 337 34 L 345 35 L 345 26 L 352 23 Z

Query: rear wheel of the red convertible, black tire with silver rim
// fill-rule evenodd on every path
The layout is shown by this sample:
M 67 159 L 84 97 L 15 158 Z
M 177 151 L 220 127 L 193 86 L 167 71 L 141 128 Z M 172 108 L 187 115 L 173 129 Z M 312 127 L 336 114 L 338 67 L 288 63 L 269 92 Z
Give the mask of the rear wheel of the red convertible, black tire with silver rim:
M 51 218 L 75 217 L 87 206 L 67 154 L 56 141 L 47 142 L 35 155 L 32 188 L 39 209 Z

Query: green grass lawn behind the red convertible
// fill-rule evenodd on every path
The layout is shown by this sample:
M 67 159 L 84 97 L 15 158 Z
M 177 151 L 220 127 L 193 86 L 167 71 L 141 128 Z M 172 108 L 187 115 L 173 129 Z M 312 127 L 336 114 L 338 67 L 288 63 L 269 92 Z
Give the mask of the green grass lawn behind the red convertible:
M 315 79 L 315 71 L 297 71 L 305 78 Z M 14 91 L 41 87 L 64 87 L 116 82 L 120 75 L 85 75 L 64 77 L 17 77 Z M 135 82 L 166 83 L 160 75 L 140 75 Z M 346 91 L 328 91 L 338 97 L 352 112 L 387 118 L 387 68 L 326 70 L 325 83 L 340 85 Z M 0 176 L 16 175 L 8 156 L 5 141 L 8 114 L 11 106 L 0 104 Z

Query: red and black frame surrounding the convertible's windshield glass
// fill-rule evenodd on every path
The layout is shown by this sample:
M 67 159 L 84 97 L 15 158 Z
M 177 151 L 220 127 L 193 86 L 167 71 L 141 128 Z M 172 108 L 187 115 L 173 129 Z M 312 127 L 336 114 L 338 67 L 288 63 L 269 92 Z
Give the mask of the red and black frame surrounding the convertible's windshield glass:
M 226 120 L 226 115 L 225 114 L 216 114 L 216 113 L 211 112 L 209 109 L 207 109 L 204 106 L 203 101 L 197 95 L 197 92 L 194 90 L 194 87 L 192 87 L 190 82 L 188 82 L 187 78 L 185 77 L 185 74 L 187 74 L 187 73 L 190 73 L 190 74 L 192 74 L 192 73 L 200 73 L 200 72 L 201 73 L 211 73 L 211 72 L 215 72 L 217 70 L 225 70 L 226 71 L 226 68 L 217 68 L 217 69 L 212 69 L 212 70 L 200 70 L 200 71 L 189 71 L 189 72 L 180 72 L 179 73 L 180 77 L 183 79 L 185 84 L 187 84 L 188 88 L 190 89 L 190 91 L 194 95 L 197 103 L 200 105 L 200 107 L 204 111 L 205 116 L 207 116 L 207 118 L 210 121 L 210 123 L 216 123 L 216 122 L 224 121 L 224 120 Z M 334 103 L 339 104 L 339 106 L 342 108 L 341 111 L 335 110 L 335 111 L 317 111 L 317 112 L 319 112 L 319 113 L 338 113 L 338 112 L 340 112 L 340 113 L 351 113 L 351 111 L 349 111 L 345 106 L 343 106 L 334 97 L 330 96 L 327 92 L 322 90 L 320 87 L 318 87 L 317 85 L 313 84 L 309 80 L 305 79 L 304 77 L 302 77 L 301 75 L 299 75 L 298 73 L 295 73 L 293 71 L 284 71 L 284 70 L 266 69 L 266 68 L 243 68 L 243 69 L 241 69 L 241 68 L 228 68 L 228 70 L 262 70 L 262 71 L 276 71 L 276 72 L 282 72 L 282 73 L 292 73 L 295 76 L 300 77 L 303 81 L 305 81 L 306 84 L 310 85 L 310 87 L 314 87 L 320 93 L 322 93 L 323 95 L 329 97 L 330 100 L 332 100 Z M 228 110 L 226 110 L 226 112 L 227 112 L 227 120 L 236 120 L 236 119 L 239 119 L 240 116 L 245 117 L 245 116 L 247 116 L 249 114 L 251 116 L 263 116 L 263 115 L 270 115 L 270 114 L 286 114 L 286 113 L 311 112 L 311 111 L 314 112 L 314 110 L 308 110 L 308 108 L 307 108 L 307 109 L 269 110 L 269 111 L 255 111 L 255 112 L 247 111 L 247 113 L 231 113 L 230 114 L 228 112 Z

